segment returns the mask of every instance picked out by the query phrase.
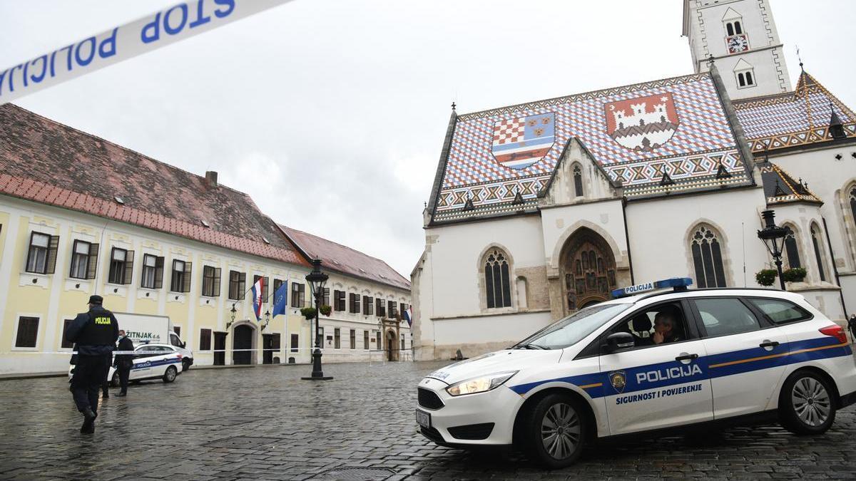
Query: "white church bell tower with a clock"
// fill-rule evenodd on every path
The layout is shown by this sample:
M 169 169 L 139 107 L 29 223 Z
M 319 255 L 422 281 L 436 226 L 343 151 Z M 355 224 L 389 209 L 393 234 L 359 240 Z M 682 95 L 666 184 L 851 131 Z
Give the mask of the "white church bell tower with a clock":
M 712 57 L 729 98 L 792 90 L 769 0 L 684 0 L 683 35 L 694 70 Z

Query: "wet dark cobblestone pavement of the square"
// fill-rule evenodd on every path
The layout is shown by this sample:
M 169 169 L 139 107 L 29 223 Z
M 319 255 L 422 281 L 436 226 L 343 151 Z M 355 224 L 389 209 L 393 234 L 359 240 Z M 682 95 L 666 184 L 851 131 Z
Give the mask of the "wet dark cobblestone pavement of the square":
M 0 479 L 856 478 L 856 408 L 824 436 L 778 427 L 615 441 L 544 471 L 519 454 L 439 448 L 415 432 L 415 383 L 448 363 L 191 370 L 142 383 L 80 435 L 62 378 L 0 382 Z M 360 468 L 356 470 L 354 468 Z

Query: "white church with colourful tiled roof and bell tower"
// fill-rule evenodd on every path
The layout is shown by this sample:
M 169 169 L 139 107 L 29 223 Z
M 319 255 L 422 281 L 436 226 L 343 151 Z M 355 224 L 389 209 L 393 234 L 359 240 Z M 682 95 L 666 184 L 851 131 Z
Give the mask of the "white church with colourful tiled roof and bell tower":
M 856 312 L 856 114 L 800 64 L 768 0 L 684 0 L 693 74 L 458 114 L 412 272 L 416 359 L 508 347 L 610 291 L 675 276 Z M 776 279 L 774 286 L 779 285 Z

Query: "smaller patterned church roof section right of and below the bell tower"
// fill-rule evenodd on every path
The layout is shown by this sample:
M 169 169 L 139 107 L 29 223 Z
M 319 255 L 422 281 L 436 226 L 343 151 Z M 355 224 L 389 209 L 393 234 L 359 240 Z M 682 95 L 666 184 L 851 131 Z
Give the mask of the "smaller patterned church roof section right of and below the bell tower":
M 753 152 L 831 140 L 835 112 L 847 137 L 856 137 L 856 114 L 803 71 L 794 92 L 735 100 L 737 118 Z

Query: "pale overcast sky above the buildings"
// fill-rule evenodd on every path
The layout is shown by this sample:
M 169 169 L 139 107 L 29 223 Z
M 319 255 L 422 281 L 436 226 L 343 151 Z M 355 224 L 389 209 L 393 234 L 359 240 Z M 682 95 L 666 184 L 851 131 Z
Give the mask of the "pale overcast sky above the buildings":
M 0 69 L 176 0 L 0 0 Z M 856 106 L 856 2 L 772 0 L 788 68 Z M 449 122 L 692 72 L 681 1 L 295 0 L 17 104 L 250 193 L 409 277 Z

